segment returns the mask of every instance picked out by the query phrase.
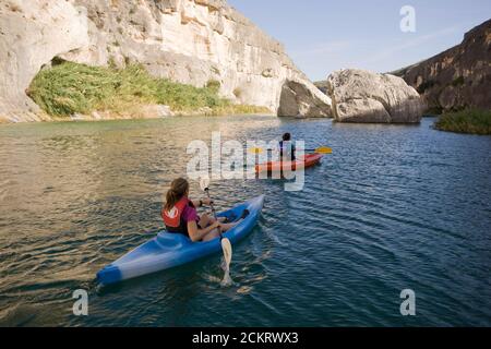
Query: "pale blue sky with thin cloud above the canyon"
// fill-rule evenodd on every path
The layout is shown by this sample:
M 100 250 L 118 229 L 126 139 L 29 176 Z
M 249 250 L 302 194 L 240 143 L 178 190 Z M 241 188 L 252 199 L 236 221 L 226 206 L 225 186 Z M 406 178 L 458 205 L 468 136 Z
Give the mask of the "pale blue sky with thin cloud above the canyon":
M 491 0 L 228 0 L 267 34 L 311 80 L 332 71 L 396 70 L 457 44 L 491 17 Z M 404 5 L 416 10 L 416 33 L 399 27 Z

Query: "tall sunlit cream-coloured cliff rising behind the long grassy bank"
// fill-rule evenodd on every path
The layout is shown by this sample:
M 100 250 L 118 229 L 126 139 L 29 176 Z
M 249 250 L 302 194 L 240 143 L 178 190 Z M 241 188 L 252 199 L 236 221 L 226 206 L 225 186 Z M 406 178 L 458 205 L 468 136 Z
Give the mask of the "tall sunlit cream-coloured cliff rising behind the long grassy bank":
M 2 1 L 0 119 L 48 118 L 25 89 L 56 57 L 93 65 L 139 62 L 155 76 L 195 86 L 215 80 L 224 97 L 280 116 L 318 117 L 331 110 L 330 98 L 283 46 L 225 0 Z M 296 96 L 283 108 L 289 86 Z

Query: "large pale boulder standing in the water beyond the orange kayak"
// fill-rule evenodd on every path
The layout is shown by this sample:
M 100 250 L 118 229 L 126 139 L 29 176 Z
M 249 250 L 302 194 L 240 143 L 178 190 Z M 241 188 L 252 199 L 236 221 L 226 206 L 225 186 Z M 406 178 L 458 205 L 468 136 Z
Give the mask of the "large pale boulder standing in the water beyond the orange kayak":
M 333 116 L 339 122 L 420 122 L 424 109 L 419 94 L 403 79 L 347 69 L 327 79 Z

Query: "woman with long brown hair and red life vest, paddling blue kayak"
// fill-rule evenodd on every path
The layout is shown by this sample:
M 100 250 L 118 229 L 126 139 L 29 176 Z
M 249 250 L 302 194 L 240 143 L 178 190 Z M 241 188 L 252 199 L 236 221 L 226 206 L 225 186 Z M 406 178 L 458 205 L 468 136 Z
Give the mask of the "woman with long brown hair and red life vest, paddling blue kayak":
M 182 233 L 193 242 L 209 241 L 219 237 L 218 229 L 226 232 L 240 222 L 239 220 L 235 224 L 226 224 L 225 219 L 217 221 L 206 214 L 200 217 L 196 207 L 211 205 L 212 201 L 209 198 L 191 201 L 188 195 L 189 182 L 185 179 L 178 178 L 172 181 L 161 210 L 167 232 Z

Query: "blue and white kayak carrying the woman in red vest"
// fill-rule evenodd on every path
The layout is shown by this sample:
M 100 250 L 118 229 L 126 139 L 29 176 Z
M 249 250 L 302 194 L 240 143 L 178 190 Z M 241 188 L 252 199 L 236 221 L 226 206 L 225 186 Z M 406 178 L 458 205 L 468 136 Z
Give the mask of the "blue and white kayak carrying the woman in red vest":
M 224 236 L 236 244 L 246 238 L 258 224 L 264 204 L 264 195 L 252 198 L 227 212 L 218 214 L 233 221 L 244 209 L 250 214 L 239 225 Z M 221 252 L 219 239 L 208 242 L 192 242 L 180 233 L 159 232 L 155 238 L 140 245 L 121 258 L 104 267 L 97 273 L 100 285 L 110 285 L 169 269 L 185 263 Z

